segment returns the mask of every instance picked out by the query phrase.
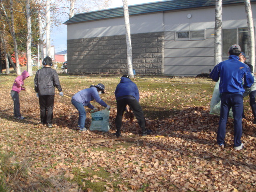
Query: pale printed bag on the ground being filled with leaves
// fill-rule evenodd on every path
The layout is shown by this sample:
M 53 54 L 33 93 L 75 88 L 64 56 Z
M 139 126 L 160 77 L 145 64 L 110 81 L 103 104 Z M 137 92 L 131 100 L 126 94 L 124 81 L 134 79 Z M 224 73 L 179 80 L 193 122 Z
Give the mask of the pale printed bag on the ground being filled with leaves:
M 109 110 L 106 108 L 102 111 L 91 113 L 92 124 L 91 131 L 109 131 Z

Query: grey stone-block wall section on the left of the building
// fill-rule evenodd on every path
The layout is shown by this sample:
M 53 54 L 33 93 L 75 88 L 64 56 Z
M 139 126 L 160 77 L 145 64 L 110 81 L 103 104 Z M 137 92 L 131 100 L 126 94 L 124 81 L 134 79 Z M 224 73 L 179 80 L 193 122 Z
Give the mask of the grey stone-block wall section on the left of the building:
M 136 74 L 164 74 L 164 33 L 132 34 L 133 69 Z M 126 36 L 105 36 L 67 41 L 70 74 L 126 74 Z

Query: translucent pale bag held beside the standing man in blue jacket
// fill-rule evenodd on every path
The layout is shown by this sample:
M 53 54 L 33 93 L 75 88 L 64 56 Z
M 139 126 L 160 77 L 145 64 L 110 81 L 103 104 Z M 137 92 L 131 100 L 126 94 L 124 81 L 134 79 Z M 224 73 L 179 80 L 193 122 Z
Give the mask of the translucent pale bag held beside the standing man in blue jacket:
M 213 93 L 212 93 L 212 100 L 210 103 L 210 114 L 213 115 L 218 115 L 220 116 L 220 80 L 218 80 L 218 82 L 216 82 Z M 232 108 L 229 111 L 228 114 L 229 118 L 233 118 L 233 112 L 232 112 Z

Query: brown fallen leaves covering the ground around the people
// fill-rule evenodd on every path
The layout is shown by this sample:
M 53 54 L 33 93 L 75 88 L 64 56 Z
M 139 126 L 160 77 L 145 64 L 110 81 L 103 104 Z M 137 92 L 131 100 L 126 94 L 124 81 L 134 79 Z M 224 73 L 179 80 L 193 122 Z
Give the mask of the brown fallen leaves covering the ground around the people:
M 191 105 L 180 104 L 182 110 L 169 118 L 146 118 L 147 128 L 153 130 L 152 136 L 162 136 L 160 138 L 93 144 L 92 139 L 116 138 L 116 106 L 112 105 L 110 110 L 110 132 L 77 132 L 74 130 L 77 110 L 70 100 L 56 96 L 54 128 L 47 128 L 40 124 L 35 95 L 20 93 L 21 113 L 26 119 L 14 120 L 10 89 L 0 86 L 0 153 L 12 154 L 8 157 L 13 165 L 9 172 L 18 170 L 16 178 L 1 175 L 14 191 L 64 191 L 63 186 L 66 191 L 256 191 L 256 126 L 250 120 L 243 120 L 245 149 L 236 151 L 232 147 L 233 122 L 229 119 L 226 147 L 218 147 L 218 116 L 209 114 L 208 105 L 192 104 L 194 99 L 206 99 L 200 93 L 196 96 L 186 93 Z M 76 91 L 69 90 L 68 83 L 63 88 L 66 94 Z M 144 89 L 141 100 L 158 93 Z M 179 100 L 175 92 L 172 94 L 175 101 Z M 208 98 L 210 96 L 211 93 Z M 111 92 L 104 97 L 108 97 L 109 102 L 115 101 Z M 166 105 L 170 103 L 172 107 L 172 101 L 168 100 Z M 246 115 L 252 117 L 246 109 Z M 86 108 L 86 112 L 88 126 L 90 109 Z M 131 121 L 131 116 L 123 118 L 124 138 L 141 134 L 137 120 Z M 17 164 L 23 166 L 15 167 Z M 3 167 L 0 171 L 6 173 Z M 57 178 L 54 184 L 50 180 L 53 178 Z M 42 183 L 49 182 L 54 189 L 42 187 Z

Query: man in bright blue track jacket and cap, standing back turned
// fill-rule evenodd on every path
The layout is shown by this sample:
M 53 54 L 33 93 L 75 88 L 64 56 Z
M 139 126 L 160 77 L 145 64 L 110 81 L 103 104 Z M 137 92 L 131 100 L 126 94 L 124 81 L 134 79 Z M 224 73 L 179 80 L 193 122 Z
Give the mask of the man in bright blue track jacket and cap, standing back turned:
M 212 80 L 217 82 L 220 79 L 221 104 L 217 144 L 220 147 L 225 146 L 226 122 L 232 108 L 235 150 L 241 150 L 244 146 L 241 142 L 244 87 L 250 88 L 254 82 L 249 67 L 239 61 L 240 54 L 240 46 L 232 45 L 228 51 L 228 60 L 217 64 L 210 73 Z

